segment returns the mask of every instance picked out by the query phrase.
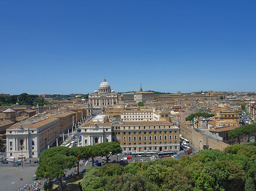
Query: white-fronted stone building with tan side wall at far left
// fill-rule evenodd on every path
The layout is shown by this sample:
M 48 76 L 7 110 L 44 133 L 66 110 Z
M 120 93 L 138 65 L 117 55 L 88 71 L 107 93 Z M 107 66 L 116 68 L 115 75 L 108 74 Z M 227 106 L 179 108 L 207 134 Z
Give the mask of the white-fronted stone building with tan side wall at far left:
M 32 117 L 6 130 L 7 157 L 38 158 L 56 141 L 60 120 L 55 117 Z

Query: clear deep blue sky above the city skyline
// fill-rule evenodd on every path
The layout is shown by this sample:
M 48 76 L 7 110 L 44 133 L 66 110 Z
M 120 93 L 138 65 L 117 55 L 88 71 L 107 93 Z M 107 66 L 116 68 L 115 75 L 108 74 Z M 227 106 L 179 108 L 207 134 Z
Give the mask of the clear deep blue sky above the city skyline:
M 256 91 L 256 1 L 1 1 L 0 94 Z

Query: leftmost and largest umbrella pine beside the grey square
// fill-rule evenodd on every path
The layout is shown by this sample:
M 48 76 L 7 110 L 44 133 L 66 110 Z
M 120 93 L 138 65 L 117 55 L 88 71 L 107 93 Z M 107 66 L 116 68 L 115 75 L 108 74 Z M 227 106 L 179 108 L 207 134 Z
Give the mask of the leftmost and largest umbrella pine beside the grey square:
M 58 177 L 60 180 L 60 189 L 63 191 L 62 177 L 64 173 L 67 172 L 66 169 L 71 168 L 76 161 L 75 156 L 56 154 L 40 163 L 38 169 L 36 169 L 36 176 L 39 177 L 39 179 L 45 178 L 50 180 Z

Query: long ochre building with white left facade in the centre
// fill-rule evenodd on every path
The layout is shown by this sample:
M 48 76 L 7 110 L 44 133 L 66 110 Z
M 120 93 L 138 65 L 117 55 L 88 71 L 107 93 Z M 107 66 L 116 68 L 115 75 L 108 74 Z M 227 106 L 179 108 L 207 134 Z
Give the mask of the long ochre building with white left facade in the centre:
M 152 114 L 151 114 L 152 115 Z M 104 116 L 91 120 L 81 128 L 82 146 L 115 141 L 123 152 L 163 152 L 180 149 L 179 128 L 172 122 L 112 122 Z

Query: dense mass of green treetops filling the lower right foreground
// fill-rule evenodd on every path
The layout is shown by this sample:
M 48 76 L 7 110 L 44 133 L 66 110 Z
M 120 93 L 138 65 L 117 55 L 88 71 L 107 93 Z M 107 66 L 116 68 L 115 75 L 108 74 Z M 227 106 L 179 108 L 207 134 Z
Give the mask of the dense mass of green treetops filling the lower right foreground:
M 256 145 L 256 143 L 254 144 Z M 180 160 L 167 158 L 88 169 L 82 190 L 255 190 L 256 146 L 203 150 Z

